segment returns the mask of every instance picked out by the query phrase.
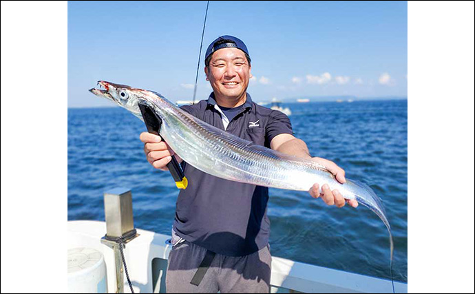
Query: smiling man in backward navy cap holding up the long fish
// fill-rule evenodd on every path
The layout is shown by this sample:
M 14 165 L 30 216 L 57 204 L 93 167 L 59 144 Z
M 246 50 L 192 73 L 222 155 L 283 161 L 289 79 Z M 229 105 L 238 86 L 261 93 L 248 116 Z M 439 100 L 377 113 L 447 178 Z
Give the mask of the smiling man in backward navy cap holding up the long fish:
M 240 39 L 220 36 L 209 45 L 204 63 L 213 92 L 196 105 L 182 106 L 184 111 L 257 145 L 315 160 L 345 182 L 344 170 L 335 163 L 310 156 L 306 143 L 293 136 L 285 114 L 253 103 L 246 92 L 252 77 L 251 58 Z M 160 142 L 160 136 L 142 133 L 140 140 L 150 164 L 166 170 L 173 150 Z M 268 188 L 217 178 L 187 162 L 182 166 L 189 185 L 176 202 L 167 292 L 268 293 Z M 319 185 L 323 185 L 322 193 Z M 328 205 L 345 204 L 339 191 L 330 191 L 326 183 L 315 183 L 309 193 Z M 355 200 L 348 202 L 357 207 Z

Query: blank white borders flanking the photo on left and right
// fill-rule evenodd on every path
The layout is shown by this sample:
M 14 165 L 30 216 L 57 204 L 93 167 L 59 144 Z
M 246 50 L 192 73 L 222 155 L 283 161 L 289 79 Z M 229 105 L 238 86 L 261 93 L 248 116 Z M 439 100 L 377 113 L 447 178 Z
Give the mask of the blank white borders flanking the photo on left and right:
M 474 293 L 473 1 L 408 4 L 408 71 L 408 288 Z M 1 1 L 0 134 L 1 292 L 65 292 L 65 1 Z

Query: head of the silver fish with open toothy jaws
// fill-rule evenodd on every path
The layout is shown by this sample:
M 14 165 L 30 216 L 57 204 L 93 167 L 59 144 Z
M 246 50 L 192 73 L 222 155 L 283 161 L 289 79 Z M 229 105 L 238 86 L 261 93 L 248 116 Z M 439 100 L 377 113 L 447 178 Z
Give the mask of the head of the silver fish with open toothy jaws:
M 106 81 L 98 81 L 97 86 L 89 90 L 92 94 L 106 98 L 117 105 L 129 110 L 138 118 L 142 118 L 138 103 L 147 100 L 144 90 L 136 89 L 128 85 L 114 84 Z

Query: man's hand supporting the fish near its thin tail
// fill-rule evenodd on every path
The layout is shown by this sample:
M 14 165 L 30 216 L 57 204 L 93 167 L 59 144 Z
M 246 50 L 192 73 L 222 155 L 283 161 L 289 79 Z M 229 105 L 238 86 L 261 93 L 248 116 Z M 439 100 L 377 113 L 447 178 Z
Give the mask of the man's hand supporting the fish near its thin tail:
M 341 182 L 341 184 L 346 182 L 345 171 L 341 169 L 341 167 L 336 165 L 335 162 L 326 160 L 324 158 L 319 158 L 319 157 L 314 157 L 312 158 L 312 160 L 326 167 L 326 169 L 328 169 L 328 171 L 330 171 L 335 176 L 335 178 L 339 182 Z M 344 207 L 345 202 L 348 202 L 348 204 L 350 204 L 352 207 L 358 206 L 357 200 L 354 200 L 354 199 L 345 200 L 345 198 L 343 198 L 343 196 L 337 189 L 331 191 L 330 187 L 326 183 L 321 187 L 321 190 L 323 191 L 323 193 L 320 193 L 319 187 L 320 187 L 319 184 L 316 182 L 313 185 L 313 187 L 310 188 L 308 193 L 310 193 L 310 195 L 313 198 L 321 197 L 321 199 L 324 200 L 324 202 L 328 205 L 336 205 L 337 207 Z

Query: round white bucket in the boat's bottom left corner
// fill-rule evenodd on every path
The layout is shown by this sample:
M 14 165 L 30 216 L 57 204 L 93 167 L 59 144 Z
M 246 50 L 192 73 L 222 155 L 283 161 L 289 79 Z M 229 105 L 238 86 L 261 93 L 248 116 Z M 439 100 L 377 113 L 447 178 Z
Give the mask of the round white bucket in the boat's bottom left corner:
M 67 251 L 67 293 L 107 293 L 103 253 L 91 248 Z

